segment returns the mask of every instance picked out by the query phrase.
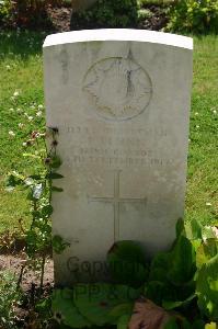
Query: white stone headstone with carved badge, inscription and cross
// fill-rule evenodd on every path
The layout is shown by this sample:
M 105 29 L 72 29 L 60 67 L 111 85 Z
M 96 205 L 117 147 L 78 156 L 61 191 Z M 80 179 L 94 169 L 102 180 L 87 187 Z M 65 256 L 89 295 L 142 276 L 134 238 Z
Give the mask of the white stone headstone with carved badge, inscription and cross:
M 47 126 L 59 129 L 65 177 L 53 229 L 71 243 L 55 256 L 57 283 L 104 276 L 115 240 L 149 254 L 172 243 L 184 212 L 192 48 L 190 37 L 139 30 L 46 38 Z

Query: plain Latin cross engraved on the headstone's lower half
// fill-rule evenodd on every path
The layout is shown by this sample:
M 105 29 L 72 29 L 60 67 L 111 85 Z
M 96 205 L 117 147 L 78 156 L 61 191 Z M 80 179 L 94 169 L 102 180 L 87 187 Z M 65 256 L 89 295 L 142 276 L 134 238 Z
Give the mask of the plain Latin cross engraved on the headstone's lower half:
M 114 195 L 112 197 L 91 197 L 88 196 L 88 200 L 91 202 L 108 202 L 114 206 L 114 240 L 119 239 L 119 204 L 121 203 L 147 203 L 147 198 L 137 198 L 137 197 L 121 197 L 119 195 L 119 175 L 121 170 L 114 171 Z

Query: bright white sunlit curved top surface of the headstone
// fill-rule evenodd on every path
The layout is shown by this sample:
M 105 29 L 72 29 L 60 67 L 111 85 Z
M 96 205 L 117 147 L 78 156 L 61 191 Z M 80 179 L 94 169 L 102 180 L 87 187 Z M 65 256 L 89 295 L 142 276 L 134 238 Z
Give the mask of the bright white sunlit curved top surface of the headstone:
M 82 30 L 51 34 L 46 37 L 44 47 L 93 41 L 133 41 L 193 49 L 192 37 L 171 33 L 131 29 Z

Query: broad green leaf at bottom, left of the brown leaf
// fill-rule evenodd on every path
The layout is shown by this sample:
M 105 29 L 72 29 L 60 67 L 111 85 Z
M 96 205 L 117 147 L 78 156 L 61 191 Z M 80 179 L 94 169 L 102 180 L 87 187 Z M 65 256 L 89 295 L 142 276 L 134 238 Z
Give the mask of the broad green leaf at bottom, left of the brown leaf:
M 106 283 L 78 284 L 74 286 L 74 305 L 79 311 L 96 326 L 115 325 L 113 309 L 139 296 L 138 291 L 125 285 Z

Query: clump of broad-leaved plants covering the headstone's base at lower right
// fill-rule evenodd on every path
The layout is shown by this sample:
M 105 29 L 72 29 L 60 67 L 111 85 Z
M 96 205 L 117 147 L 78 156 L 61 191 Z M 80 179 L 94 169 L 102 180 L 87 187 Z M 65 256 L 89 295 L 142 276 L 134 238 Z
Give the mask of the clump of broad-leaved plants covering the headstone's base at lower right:
M 171 250 L 157 253 L 150 263 L 136 242 L 115 242 L 107 265 L 111 284 L 76 284 L 73 290 L 54 291 L 51 309 L 58 324 L 70 328 L 217 328 L 217 227 L 202 227 L 196 220 L 185 227 L 179 220 Z

